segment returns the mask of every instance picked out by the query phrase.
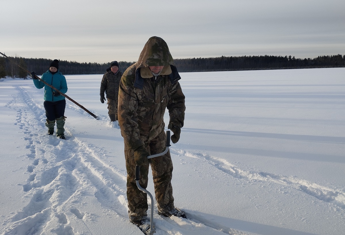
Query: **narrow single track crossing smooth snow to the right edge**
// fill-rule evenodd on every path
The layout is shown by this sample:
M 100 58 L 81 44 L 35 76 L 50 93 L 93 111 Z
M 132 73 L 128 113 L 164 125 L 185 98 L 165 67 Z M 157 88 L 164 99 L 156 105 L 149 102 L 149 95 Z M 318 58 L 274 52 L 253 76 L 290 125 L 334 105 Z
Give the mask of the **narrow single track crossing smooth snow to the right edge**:
M 244 171 L 229 163 L 225 159 L 209 156 L 206 153 L 195 153 L 184 151 L 180 149 L 170 148 L 170 152 L 178 156 L 185 156 L 190 158 L 196 158 L 201 161 L 205 161 L 210 165 L 213 165 L 217 169 L 231 175 L 238 179 L 247 179 L 251 181 L 267 181 L 272 183 L 281 184 L 295 190 L 302 191 L 318 200 L 331 203 L 337 207 L 345 209 L 345 190 L 336 190 L 327 188 L 317 183 L 312 183 L 307 180 L 298 179 L 294 176 L 283 176 L 277 174 L 271 174 L 267 172 L 252 172 Z

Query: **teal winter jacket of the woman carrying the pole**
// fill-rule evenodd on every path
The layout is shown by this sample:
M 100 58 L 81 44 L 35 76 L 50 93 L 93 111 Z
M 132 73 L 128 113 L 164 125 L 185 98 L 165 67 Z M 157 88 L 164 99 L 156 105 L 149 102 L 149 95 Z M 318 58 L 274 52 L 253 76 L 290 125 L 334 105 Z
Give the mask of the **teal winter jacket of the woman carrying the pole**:
M 48 83 L 49 85 L 52 85 L 56 89 L 58 89 L 61 93 L 65 94 L 67 92 L 67 82 L 65 76 L 61 74 L 61 72 L 58 70 L 55 74 L 52 74 L 50 70 L 45 72 L 41 79 Z M 44 87 L 44 100 L 55 102 L 59 100 L 65 99 L 65 96 L 59 95 L 59 96 L 53 96 L 53 90 L 51 87 L 47 86 L 43 82 L 41 82 L 39 79 L 33 79 L 33 84 L 38 88 L 41 89 Z

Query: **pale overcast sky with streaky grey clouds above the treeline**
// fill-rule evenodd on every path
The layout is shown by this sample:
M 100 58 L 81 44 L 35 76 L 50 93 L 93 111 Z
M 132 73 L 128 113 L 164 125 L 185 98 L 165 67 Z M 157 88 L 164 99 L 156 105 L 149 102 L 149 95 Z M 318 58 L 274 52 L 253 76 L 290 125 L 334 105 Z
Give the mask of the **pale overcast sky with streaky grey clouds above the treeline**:
M 0 52 L 137 61 L 151 36 L 173 58 L 345 54 L 345 0 L 0 0 Z

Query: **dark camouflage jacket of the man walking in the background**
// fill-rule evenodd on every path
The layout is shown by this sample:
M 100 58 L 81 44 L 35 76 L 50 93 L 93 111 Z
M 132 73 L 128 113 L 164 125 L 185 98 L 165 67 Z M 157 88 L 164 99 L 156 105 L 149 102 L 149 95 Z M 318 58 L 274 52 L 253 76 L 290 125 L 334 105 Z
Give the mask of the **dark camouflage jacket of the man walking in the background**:
M 99 95 L 104 96 L 105 92 L 107 98 L 117 99 L 122 74 L 121 71 L 114 74 L 110 71 L 110 68 L 108 68 L 107 72 L 103 75 Z

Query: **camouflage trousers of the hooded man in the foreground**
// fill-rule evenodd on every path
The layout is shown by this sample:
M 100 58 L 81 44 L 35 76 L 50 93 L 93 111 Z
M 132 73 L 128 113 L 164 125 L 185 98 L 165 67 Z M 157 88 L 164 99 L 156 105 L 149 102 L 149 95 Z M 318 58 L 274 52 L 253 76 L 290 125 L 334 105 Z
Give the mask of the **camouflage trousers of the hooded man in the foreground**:
M 146 149 L 151 154 L 160 153 L 165 150 L 165 141 L 166 137 L 163 130 L 155 139 L 147 143 Z M 126 143 L 125 158 L 127 168 L 128 216 L 131 221 L 141 221 L 141 218 L 147 215 L 147 194 L 140 191 L 136 185 L 134 151 L 128 149 Z M 173 167 L 170 152 L 168 151 L 160 157 L 151 158 L 150 165 L 158 208 L 174 209 L 174 197 L 172 196 L 171 186 Z M 145 189 L 148 184 L 148 171 L 148 164 L 140 167 L 139 184 Z

